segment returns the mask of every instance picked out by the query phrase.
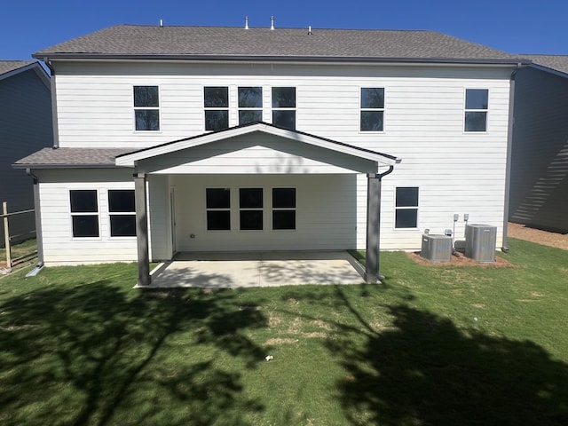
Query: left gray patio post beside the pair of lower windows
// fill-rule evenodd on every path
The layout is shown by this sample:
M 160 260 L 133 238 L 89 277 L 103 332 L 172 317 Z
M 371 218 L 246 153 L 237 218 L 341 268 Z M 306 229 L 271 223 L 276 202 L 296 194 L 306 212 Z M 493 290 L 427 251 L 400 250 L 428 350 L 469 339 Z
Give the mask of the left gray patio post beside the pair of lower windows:
M 146 211 L 146 173 L 134 174 L 136 204 L 136 240 L 138 242 L 138 286 L 149 286 L 150 256 L 148 249 L 148 215 Z

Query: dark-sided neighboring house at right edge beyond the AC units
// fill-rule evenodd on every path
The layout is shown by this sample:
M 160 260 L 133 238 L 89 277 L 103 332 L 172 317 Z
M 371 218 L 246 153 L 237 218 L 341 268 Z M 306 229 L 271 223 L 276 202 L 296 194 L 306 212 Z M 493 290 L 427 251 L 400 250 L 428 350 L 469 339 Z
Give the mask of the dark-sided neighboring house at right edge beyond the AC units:
M 568 56 L 533 60 L 515 77 L 509 219 L 568 233 Z

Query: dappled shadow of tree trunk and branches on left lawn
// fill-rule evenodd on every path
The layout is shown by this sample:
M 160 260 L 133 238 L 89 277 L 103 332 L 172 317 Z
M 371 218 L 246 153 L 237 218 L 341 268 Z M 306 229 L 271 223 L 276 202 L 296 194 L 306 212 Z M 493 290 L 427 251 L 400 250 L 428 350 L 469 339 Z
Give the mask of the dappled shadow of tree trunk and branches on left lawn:
M 231 291 L 101 280 L 14 297 L 0 312 L 3 424 L 248 424 L 263 410 L 216 362 L 254 368 L 264 356 L 246 330 L 266 319 Z

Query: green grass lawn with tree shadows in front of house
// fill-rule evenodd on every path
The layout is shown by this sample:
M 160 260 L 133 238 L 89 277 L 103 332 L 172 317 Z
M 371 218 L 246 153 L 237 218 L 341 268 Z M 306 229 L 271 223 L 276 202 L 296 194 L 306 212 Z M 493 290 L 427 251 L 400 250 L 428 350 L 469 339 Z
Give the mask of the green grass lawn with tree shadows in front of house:
M 509 247 L 507 268 L 384 253 L 384 285 L 16 272 L 0 279 L 0 424 L 568 424 L 568 251 Z

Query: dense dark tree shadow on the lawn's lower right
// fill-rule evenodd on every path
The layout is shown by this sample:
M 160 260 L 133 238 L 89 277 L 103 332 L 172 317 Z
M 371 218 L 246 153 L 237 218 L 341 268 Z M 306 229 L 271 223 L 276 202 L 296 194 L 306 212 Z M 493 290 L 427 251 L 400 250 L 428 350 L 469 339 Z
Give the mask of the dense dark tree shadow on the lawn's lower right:
M 406 305 L 392 327 L 327 343 L 347 375 L 337 398 L 352 424 L 568 424 L 568 365 L 540 346 L 460 330 Z M 359 343 L 360 334 L 366 343 Z

